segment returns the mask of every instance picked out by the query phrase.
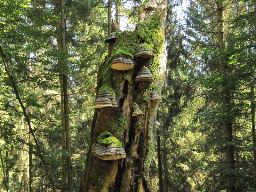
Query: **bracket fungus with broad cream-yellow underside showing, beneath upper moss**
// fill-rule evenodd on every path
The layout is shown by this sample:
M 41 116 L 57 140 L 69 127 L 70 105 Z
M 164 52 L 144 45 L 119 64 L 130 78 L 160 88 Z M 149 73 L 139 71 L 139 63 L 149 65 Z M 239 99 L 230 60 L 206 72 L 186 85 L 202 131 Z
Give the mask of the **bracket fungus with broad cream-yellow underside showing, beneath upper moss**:
M 117 53 L 111 62 L 111 68 L 124 71 L 134 68 L 133 61 L 129 55 Z

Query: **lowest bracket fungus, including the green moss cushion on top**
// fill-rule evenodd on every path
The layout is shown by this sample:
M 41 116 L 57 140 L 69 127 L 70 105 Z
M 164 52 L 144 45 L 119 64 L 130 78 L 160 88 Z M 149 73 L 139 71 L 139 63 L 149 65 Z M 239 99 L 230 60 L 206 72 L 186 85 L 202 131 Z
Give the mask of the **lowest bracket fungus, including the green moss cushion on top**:
M 103 132 L 92 145 L 92 155 L 103 160 L 117 160 L 126 157 L 122 144 L 110 132 Z

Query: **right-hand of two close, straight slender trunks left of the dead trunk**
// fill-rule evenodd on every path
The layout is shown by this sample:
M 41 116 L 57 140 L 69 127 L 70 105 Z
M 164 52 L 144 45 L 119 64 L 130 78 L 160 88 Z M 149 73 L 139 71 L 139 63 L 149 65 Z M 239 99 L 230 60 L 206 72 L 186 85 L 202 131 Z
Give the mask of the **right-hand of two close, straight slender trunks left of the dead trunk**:
M 66 21 L 64 12 L 64 0 L 60 1 L 61 7 L 61 50 L 62 54 L 66 51 Z M 68 192 L 72 192 L 72 164 L 71 164 L 71 149 L 70 149 L 70 133 L 69 133 L 69 108 L 68 108 L 68 62 L 64 56 L 61 58 L 63 69 L 63 99 L 64 99 L 64 118 L 65 118 L 65 135 L 66 135 L 66 149 L 67 155 L 67 169 L 68 169 Z

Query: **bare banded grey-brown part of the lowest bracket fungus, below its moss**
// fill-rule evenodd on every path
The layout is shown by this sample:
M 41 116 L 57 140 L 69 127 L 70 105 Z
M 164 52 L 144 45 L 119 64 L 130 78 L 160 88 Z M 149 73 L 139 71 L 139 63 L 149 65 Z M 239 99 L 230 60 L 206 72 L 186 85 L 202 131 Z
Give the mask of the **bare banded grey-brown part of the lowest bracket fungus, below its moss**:
M 103 160 L 116 160 L 126 157 L 125 150 L 119 146 L 100 145 L 94 143 L 92 145 L 92 155 Z

